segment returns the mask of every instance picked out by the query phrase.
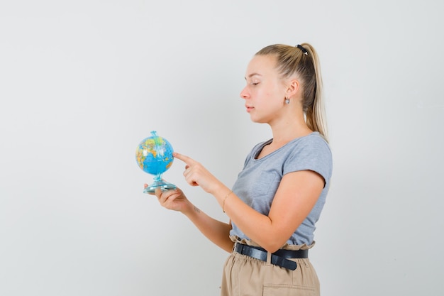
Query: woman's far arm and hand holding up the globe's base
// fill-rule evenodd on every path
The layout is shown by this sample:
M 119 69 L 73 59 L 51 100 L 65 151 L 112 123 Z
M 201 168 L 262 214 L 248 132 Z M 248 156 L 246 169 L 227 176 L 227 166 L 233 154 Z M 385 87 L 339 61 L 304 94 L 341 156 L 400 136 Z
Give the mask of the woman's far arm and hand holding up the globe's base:
M 168 190 L 155 192 L 157 199 L 162 207 L 172 209 L 174 211 L 182 212 L 187 216 L 193 224 L 201 231 L 206 238 L 219 246 L 223 250 L 231 253 L 233 250 L 233 241 L 230 239 L 231 224 L 223 223 L 211 218 L 200 209 L 195 207 L 187 197 L 185 197 L 182 190 Z

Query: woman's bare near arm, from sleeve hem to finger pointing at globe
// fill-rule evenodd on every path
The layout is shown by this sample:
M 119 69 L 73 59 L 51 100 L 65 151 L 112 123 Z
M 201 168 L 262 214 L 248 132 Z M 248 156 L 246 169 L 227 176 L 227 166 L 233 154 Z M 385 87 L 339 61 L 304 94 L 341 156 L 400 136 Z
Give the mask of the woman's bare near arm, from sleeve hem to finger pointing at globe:
M 200 163 L 174 153 L 186 165 L 185 179 L 216 197 L 223 210 L 242 231 L 267 251 L 277 251 L 304 221 L 318 200 L 325 182 L 311 170 L 290 172 L 282 177 L 268 216 L 260 214 L 208 172 Z

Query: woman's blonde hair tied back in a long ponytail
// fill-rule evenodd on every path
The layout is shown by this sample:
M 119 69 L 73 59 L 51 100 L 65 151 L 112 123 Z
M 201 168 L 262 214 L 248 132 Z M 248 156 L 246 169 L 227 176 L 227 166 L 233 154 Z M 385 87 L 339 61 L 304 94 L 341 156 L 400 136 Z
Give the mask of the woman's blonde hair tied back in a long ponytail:
M 321 67 L 318 54 L 309 43 L 290 46 L 284 44 L 268 45 L 256 55 L 274 55 L 277 70 L 283 78 L 297 75 L 303 89 L 302 109 L 306 124 L 312 131 L 318 131 L 328 141 L 326 113 L 323 103 Z

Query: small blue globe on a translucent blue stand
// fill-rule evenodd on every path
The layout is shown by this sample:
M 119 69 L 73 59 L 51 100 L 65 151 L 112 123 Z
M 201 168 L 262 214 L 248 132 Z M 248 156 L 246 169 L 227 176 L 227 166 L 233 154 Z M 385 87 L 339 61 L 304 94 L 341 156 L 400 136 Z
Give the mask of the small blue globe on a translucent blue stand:
M 162 174 L 167 171 L 174 160 L 173 149 L 167 139 L 157 136 L 155 131 L 152 136 L 144 138 L 135 150 L 135 160 L 140 169 L 150 175 L 154 175 L 155 182 L 145 188 L 144 192 L 154 192 L 156 187 L 161 190 L 176 188 L 174 185 L 162 180 Z

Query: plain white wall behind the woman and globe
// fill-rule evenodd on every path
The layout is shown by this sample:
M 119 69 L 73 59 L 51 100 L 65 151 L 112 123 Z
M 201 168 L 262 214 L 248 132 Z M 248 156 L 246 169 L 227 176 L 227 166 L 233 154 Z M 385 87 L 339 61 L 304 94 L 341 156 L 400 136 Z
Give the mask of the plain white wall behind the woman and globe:
M 335 165 L 322 294 L 443 295 L 442 4 L 261 3 L 1 1 L 0 295 L 218 295 L 228 254 L 142 193 L 135 147 L 156 130 L 233 185 L 271 135 L 239 98 L 245 67 L 303 42 Z M 164 177 L 226 221 L 182 170 Z

